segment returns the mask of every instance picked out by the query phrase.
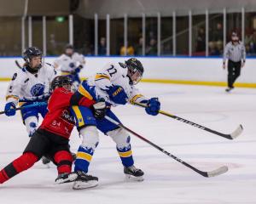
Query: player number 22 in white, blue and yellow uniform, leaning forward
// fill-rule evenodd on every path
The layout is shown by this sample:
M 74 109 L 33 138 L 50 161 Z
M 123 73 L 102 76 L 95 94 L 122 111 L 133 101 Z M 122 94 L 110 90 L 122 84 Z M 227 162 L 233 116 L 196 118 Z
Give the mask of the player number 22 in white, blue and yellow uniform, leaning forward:
M 157 98 L 148 99 L 144 97 L 135 85 L 143 77 L 143 65 L 136 59 L 131 58 L 125 63 L 111 63 L 106 65 L 95 76 L 89 77 L 82 82 L 78 91 L 75 93 L 77 99 L 83 97 L 88 99 L 105 99 L 102 103 L 102 112 L 113 120 L 119 122 L 117 116 L 110 110 L 111 106 L 125 105 L 128 101 L 134 101 L 148 105 L 146 112 L 149 115 L 156 116 L 160 110 L 160 101 Z M 107 106 L 106 106 L 107 105 Z M 98 110 L 100 107 L 98 107 Z M 79 146 L 77 159 L 75 161 L 75 172 L 81 175 L 81 179 L 75 181 L 74 189 L 83 189 L 95 186 L 90 183 L 86 177 L 91 158 L 99 142 L 97 129 L 108 135 L 116 143 L 116 149 L 124 166 L 124 173 L 127 178 L 134 180 L 143 180 L 143 171 L 134 166 L 131 152 L 130 136 L 123 128 L 109 122 L 104 118 L 93 115 L 92 111 L 86 107 L 73 106 L 73 115 L 75 116 L 79 133 L 83 136 L 82 144 Z

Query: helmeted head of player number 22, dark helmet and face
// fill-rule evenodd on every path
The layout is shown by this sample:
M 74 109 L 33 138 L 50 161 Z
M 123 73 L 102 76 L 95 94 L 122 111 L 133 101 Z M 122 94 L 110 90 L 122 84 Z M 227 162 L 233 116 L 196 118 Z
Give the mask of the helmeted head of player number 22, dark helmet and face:
M 143 77 L 143 64 L 138 59 L 131 58 L 125 61 L 125 65 L 128 69 L 128 77 L 130 78 L 131 84 L 137 84 Z M 135 75 L 137 76 L 136 78 L 133 77 Z

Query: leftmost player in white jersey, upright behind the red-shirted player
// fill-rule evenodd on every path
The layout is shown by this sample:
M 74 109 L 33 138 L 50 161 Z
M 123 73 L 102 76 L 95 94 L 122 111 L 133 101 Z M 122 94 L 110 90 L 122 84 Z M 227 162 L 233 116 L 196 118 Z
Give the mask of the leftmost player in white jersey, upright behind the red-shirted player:
M 35 47 L 24 52 L 25 65 L 15 72 L 6 94 L 4 108 L 6 116 L 15 116 L 17 105 L 32 105 L 49 98 L 49 85 L 56 75 L 53 66 L 44 64 L 42 52 Z M 23 102 L 22 102 L 23 101 Z M 47 105 L 34 106 L 21 110 L 23 123 L 31 137 L 38 127 L 38 116 L 45 116 Z

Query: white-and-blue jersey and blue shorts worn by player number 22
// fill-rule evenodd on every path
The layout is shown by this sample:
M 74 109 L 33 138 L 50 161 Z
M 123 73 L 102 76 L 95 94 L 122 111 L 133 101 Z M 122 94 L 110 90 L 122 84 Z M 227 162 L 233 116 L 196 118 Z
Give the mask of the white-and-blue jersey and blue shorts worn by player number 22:
M 137 101 L 139 103 L 147 100 L 139 93 L 137 88 L 130 84 L 130 79 L 127 77 L 127 68 L 122 63 L 113 63 L 104 66 L 101 71 L 98 71 L 94 76 L 82 82 L 77 92 L 88 99 L 94 99 L 96 101 L 103 98 L 108 105 L 116 106 L 118 104 L 115 104 L 109 99 L 107 93 L 107 90 L 115 85 L 124 88 L 125 94 L 131 102 Z M 102 119 L 101 121 L 96 120 L 88 108 L 73 106 L 72 110 L 79 129 L 86 125 L 96 125 L 102 133 L 107 134 L 108 131 L 118 128 L 118 126 L 112 122 L 108 122 L 106 119 Z M 107 116 L 119 122 L 119 119 L 112 111 L 108 110 Z

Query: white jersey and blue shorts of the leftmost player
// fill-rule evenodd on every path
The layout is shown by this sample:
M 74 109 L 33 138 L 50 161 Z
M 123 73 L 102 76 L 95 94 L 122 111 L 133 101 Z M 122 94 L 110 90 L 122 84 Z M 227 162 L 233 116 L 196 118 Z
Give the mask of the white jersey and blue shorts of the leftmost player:
M 44 99 L 49 96 L 50 82 L 56 76 L 56 71 L 51 65 L 44 64 L 44 66 L 35 74 L 26 70 L 17 70 L 9 83 L 7 89 L 6 101 L 13 102 L 16 106 L 31 105 L 38 99 Z M 43 117 L 47 113 L 47 105 L 40 107 L 27 108 L 21 111 L 23 120 L 29 116 L 37 116 L 41 114 Z

